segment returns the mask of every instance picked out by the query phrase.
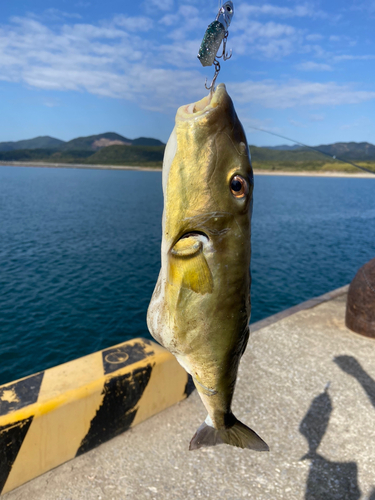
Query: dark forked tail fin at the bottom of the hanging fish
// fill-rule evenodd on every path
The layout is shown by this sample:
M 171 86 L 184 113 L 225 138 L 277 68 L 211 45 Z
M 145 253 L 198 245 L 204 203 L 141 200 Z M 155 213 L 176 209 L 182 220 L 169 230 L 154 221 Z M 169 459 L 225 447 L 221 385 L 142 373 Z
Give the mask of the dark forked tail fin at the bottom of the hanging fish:
M 217 444 L 230 444 L 238 448 L 249 448 L 256 451 L 269 451 L 268 445 L 252 429 L 236 419 L 228 429 L 215 429 L 205 422 L 198 428 L 190 441 L 189 450 L 197 450 Z

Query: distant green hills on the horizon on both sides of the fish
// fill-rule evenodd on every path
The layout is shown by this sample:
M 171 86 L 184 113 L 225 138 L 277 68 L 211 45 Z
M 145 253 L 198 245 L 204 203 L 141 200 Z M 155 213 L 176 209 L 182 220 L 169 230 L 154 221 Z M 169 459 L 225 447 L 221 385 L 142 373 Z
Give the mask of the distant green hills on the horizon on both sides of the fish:
M 157 139 L 139 137 L 132 140 L 114 132 L 78 137 L 66 143 L 52 137 L 37 137 L 11 144 L 20 143 L 31 146 L 25 149 L 4 150 L 1 146 L 4 148 L 4 145 L 9 143 L 0 143 L 0 161 L 161 167 L 165 148 L 165 145 Z M 52 146 L 36 147 L 44 143 Z M 60 145 L 58 149 L 56 144 Z M 370 143 L 336 143 L 318 148 L 325 153 L 354 161 L 375 171 L 375 146 Z M 308 148 L 284 149 L 283 147 L 280 150 L 250 146 L 250 151 L 253 167 L 260 170 L 359 172 L 352 165 Z

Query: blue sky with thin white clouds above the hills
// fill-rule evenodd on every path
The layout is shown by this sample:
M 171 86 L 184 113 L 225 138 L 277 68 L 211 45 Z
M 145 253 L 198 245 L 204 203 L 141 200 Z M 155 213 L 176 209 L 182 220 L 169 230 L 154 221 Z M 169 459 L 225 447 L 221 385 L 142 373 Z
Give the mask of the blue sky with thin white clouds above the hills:
M 375 143 L 375 0 L 234 0 L 217 83 L 250 144 Z M 166 142 L 207 94 L 197 53 L 218 0 L 0 4 L 0 142 L 103 132 Z

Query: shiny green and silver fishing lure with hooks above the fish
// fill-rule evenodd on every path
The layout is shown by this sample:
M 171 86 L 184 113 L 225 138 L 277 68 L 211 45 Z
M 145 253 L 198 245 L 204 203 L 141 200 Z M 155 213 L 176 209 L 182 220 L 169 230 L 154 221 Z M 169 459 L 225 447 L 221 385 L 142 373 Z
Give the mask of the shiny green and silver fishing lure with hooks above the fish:
M 233 13 L 233 2 L 225 2 L 220 7 L 215 21 L 208 26 L 199 48 L 198 59 L 202 63 L 202 66 L 215 66 L 214 78 L 209 87 L 207 87 L 206 79 L 205 87 L 207 90 L 213 91 L 216 78 L 220 71 L 220 63 L 217 59 L 222 57 L 224 61 L 227 61 L 232 57 L 232 50 L 229 55 L 226 52 L 226 44 L 228 38 L 228 28 L 232 20 Z M 223 52 L 221 56 L 218 56 L 217 53 L 222 42 Z

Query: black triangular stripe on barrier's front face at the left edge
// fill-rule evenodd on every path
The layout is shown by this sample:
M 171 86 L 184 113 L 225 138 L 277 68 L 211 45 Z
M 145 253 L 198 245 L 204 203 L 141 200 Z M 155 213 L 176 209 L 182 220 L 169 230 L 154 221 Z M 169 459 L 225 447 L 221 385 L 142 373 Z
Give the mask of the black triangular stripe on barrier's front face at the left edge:
M 0 427 L 0 493 L 34 417 Z

